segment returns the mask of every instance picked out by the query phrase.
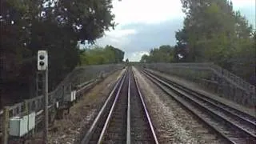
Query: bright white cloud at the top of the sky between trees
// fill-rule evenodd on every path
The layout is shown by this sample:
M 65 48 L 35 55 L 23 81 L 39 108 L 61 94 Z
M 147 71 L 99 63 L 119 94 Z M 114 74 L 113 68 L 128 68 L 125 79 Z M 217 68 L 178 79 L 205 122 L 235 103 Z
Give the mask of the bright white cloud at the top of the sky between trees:
M 184 16 L 180 0 L 115 0 L 113 6 L 115 22 L 120 25 L 158 23 Z

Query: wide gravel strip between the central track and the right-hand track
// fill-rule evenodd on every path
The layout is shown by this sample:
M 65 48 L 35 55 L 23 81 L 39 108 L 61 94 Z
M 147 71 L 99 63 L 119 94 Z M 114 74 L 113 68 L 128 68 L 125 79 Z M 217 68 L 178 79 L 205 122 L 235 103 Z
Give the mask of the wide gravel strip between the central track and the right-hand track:
M 194 115 L 133 67 L 159 143 L 220 143 Z

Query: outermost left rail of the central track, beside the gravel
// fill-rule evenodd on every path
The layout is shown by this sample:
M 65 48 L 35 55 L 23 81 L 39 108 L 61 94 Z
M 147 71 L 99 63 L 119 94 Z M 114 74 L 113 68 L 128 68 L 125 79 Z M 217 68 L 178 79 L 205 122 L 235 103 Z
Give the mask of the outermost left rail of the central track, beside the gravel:
M 118 82 L 116 82 L 114 89 L 110 92 L 108 98 L 106 99 L 106 102 L 102 106 L 101 110 L 98 112 L 97 117 L 94 119 L 93 124 L 90 126 L 90 129 L 86 132 L 85 137 L 82 139 L 81 144 L 87 144 L 90 142 L 90 138 L 92 134 L 94 134 L 94 130 L 96 129 L 98 122 L 100 121 L 100 118 L 102 118 L 102 114 L 105 112 L 106 106 L 110 102 L 110 99 L 114 96 L 114 92 L 118 89 L 119 84 L 120 83 L 122 84 L 124 82 L 124 79 L 126 78 L 126 74 L 127 74 L 127 70 L 125 74 L 123 74 L 122 77 L 118 79 Z

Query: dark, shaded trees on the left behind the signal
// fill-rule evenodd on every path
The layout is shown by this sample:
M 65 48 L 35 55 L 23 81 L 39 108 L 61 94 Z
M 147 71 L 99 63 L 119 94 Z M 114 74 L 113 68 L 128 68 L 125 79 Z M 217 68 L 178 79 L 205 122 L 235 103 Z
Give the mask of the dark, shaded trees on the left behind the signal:
M 111 0 L 1 0 L 1 93 L 34 95 L 38 50 L 48 51 L 49 88 L 57 86 L 84 60 L 78 44 L 94 44 L 116 26 L 112 7 Z

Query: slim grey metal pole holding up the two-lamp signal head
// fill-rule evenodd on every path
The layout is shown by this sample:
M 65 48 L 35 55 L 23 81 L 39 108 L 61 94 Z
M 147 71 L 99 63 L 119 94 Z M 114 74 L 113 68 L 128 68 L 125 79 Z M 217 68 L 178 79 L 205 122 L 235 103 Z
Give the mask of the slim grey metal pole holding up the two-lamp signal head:
M 43 135 L 43 140 L 45 144 L 48 143 L 47 141 L 47 135 L 48 135 L 48 68 L 45 70 L 45 81 L 44 81 L 44 95 L 45 95 L 45 110 L 44 110 L 44 118 L 45 118 L 45 127 L 44 127 L 44 135 Z

